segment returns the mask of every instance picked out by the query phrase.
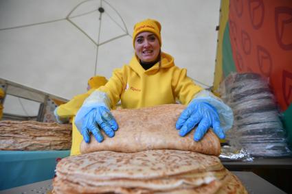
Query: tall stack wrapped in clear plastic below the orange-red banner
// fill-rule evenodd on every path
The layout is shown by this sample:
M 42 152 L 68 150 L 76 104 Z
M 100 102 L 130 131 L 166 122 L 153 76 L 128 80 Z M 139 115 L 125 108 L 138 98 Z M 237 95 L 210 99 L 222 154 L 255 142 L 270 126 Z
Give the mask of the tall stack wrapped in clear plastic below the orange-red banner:
M 218 93 L 234 112 L 234 125 L 226 134 L 229 145 L 255 157 L 291 155 L 267 79 L 257 73 L 230 73 Z

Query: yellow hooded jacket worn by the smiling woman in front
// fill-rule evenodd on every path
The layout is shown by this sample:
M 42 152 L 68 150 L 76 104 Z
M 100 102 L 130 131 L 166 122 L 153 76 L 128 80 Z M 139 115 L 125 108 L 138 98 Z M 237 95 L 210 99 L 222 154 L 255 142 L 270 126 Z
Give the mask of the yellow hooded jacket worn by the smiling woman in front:
M 121 99 L 122 108 L 142 108 L 175 104 L 176 98 L 187 105 L 203 88 L 192 82 L 186 69 L 175 66 L 174 58 L 161 52 L 161 62 L 145 70 L 134 56 L 129 65 L 115 69 L 103 91 L 111 99 L 111 108 Z

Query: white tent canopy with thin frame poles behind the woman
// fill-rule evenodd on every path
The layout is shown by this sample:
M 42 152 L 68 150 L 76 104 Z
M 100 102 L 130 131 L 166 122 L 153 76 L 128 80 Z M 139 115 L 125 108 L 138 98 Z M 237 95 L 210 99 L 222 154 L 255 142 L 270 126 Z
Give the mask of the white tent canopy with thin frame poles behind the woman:
M 133 25 L 150 18 L 161 23 L 162 51 L 206 88 L 219 9 L 216 0 L 0 0 L 0 78 L 71 99 L 89 77 L 128 63 Z

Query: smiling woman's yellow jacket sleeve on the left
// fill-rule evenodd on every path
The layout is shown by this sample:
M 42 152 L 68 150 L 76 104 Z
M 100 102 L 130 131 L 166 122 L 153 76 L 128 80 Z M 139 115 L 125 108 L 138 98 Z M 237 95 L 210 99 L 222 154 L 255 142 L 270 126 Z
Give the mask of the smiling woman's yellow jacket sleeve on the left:
M 122 91 L 126 87 L 126 82 L 124 81 L 125 69 L 126 66 L 122 69 L 115 69 L 113 71 L 113 76 L 109 79 L 109 82 L 97 89 L 106 93 L 109 99 L 111 99 L 111 108 L 115 108 L 115 105 L 120 100 Z

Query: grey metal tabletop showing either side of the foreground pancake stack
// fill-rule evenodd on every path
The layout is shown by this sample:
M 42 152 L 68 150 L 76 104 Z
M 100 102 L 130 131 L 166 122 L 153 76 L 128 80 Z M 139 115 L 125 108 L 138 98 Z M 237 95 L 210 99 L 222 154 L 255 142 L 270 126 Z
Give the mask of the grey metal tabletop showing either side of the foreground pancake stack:
M 243 171 L 232 171 L 238 178 L 243 182 L 245 188 L 250 194 L 284 194 L 284 191 L 281 191 L 273 184 L 267 182 L 266 180 L 260 178 L 258 175 L 252 172 L 243 172 Z M 0 191 L 0 194 L 13 194 L 13 193 L 44 193 L 52 191 L 52 180 L 45 180 L 42 182 L 36 182 L 34 184 L 27 184 L 25 186 L 19 186 L 13 189 L 8 189 Z

